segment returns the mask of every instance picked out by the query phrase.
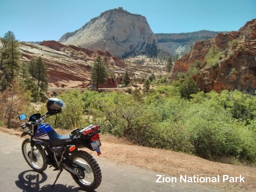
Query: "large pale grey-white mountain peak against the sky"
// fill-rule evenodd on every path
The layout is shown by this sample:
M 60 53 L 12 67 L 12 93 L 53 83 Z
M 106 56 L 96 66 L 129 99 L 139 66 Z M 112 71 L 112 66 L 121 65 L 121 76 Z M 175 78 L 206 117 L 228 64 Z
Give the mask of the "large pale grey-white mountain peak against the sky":
M 107 50 L 119 58 L 134 53 L 156 55 L 158 47 L 147 19 L 122 7 L 101 13 L 79 30 L 63 35 L 59 42 L 92 51 Z

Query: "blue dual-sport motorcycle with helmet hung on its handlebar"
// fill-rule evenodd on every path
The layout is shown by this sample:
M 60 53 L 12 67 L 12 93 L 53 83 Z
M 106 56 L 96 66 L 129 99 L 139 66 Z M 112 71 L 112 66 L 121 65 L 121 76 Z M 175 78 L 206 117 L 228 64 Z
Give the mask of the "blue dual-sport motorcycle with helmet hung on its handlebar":
M 98 188 L 101 183 L 101 170 L 95 159 L 87 152 L 78 150 L 86 147 L 92 151 L 100 152 L 99 125 L 90 125 L 82 130 L 75 129 L 69 135 L 60 135 L 44 119 L 61 113 L 65 103 L 57 98 L 50 98 L 46 103 L 45 115 L 37 113 L 27 119 L 25 114 L 19 116 L 20 120 L 28 122 L 20 125 L 27 130 L 21 137 L 30 135 L 30 139 L 22 142 L 21 150 L 28 165 L 36 172 L 43 172 L 47 165 L 54 167 L 59 173 L 52 185 L 58 180 L 60 173 L 65 169 L 75 182 L 84 190 L 90 191 Z

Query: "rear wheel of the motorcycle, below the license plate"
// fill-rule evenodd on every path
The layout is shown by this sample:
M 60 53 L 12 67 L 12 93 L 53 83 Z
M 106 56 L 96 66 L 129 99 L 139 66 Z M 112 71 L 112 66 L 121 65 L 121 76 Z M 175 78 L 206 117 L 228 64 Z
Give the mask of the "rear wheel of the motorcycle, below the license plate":
M 100 186 L 101 183 L 101 170 L 97 161 L 87 152 L 78 151 L 77 153 L 71 154 L 69 161 L 81 165 L 85 171 L 79 169 L 75 170 L 79 175 L 71 174 L 75 182 L 84 190 L 91 191 Z

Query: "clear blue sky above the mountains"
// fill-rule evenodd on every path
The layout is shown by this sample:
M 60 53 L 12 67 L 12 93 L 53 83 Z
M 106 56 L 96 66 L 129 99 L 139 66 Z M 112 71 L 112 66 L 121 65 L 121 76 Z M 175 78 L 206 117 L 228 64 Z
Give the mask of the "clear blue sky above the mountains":
M 0 0 L 0 37 L 11 30 L 20 41 L 58 41 L 119 6 L 145 16 L 154 33 L 238 30 L 256 18 L 256 0 Z

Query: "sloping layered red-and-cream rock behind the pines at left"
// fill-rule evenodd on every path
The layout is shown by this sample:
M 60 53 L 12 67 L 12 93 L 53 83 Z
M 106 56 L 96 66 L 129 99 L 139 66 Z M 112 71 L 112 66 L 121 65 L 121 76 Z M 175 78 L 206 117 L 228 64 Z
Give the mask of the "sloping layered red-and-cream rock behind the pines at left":
M 44 41 L 39 45 L 26 42 L 20 44 L 21 61 L 28 62 L 31 58 L 43 58 L 48 67 L 50 87 L 90 85 L 91 67 L 98 55 L 111 70 L 125 71 L 124 62 L 109 52 L 91 51 L 74 45 L 66 46 L 55 41 Z M 117 82 L 108 79 L 102 87 L 117 87 Z

